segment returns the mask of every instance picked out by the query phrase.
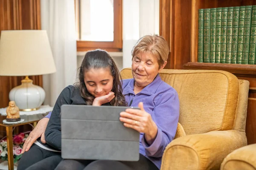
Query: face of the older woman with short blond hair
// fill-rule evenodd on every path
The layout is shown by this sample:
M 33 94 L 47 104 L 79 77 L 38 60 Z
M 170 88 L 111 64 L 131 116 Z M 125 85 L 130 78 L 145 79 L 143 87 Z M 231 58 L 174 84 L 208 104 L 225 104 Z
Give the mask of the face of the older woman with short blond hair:
M 136 54 L 132 59 L 131 65 L 135 84 L 139 87 L 149 85 L 164 66 L 165 64 L 159 69 L 157 57 L 150 52 Z

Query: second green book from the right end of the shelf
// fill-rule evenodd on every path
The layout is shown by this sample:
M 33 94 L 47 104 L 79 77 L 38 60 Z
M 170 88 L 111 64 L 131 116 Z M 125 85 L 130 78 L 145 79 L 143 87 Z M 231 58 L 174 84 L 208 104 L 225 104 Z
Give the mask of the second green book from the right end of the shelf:
M 252 17 L 251 14 L 252 14 L 252 6 L 245 6 L 242 64 L 248 64 L 248 59 L 249 59 L 250 25 L 251 25 L 251 17 Z

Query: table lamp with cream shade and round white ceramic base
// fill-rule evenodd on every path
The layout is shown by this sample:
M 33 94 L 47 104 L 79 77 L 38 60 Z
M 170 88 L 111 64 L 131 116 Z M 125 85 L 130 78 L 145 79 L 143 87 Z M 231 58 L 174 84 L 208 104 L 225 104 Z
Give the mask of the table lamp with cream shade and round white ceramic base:
M 44 102 L 45 91 L 33 85 L 29 76 L 56 72 L 52 50 L 45 30 L 2 31 L 0 37 L 0 76 L 26 76 L 13 88 L 9 99 L 20 111 L 37 110 Z

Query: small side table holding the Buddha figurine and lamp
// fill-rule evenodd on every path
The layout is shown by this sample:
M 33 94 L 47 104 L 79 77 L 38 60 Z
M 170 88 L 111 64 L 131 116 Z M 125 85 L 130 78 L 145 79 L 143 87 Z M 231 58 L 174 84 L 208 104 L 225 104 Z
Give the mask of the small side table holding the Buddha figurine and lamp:
M 3 124 L 3 120 L 6 119 L 6 116 L 0 116 L 0 126 L 6 127 L 6 136 L 7 136 L 7 153 L 8 153 L 8 170 L 14 170 L 13 163 L 13 141 L 12 141 L 12 130 L 15 126 L 26 125 L 29 123 L 38 122 L 48 113 L 41 113 L 35 115 L 21 115 L 20 118 L 24 119 L 24 122 L 12 125 Z

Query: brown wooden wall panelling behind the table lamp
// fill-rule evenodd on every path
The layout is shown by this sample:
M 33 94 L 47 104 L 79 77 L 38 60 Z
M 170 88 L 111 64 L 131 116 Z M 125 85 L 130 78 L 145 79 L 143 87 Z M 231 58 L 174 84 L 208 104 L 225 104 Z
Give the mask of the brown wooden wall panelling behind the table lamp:
M 0 0 L 0 31 L 20 29 L 41 29 L 40 0 Z M 23 78 L 0 76 L 0 108 L 8 106 L 9 91 Z M 42 76 L 29 78 L 43 86 Z

